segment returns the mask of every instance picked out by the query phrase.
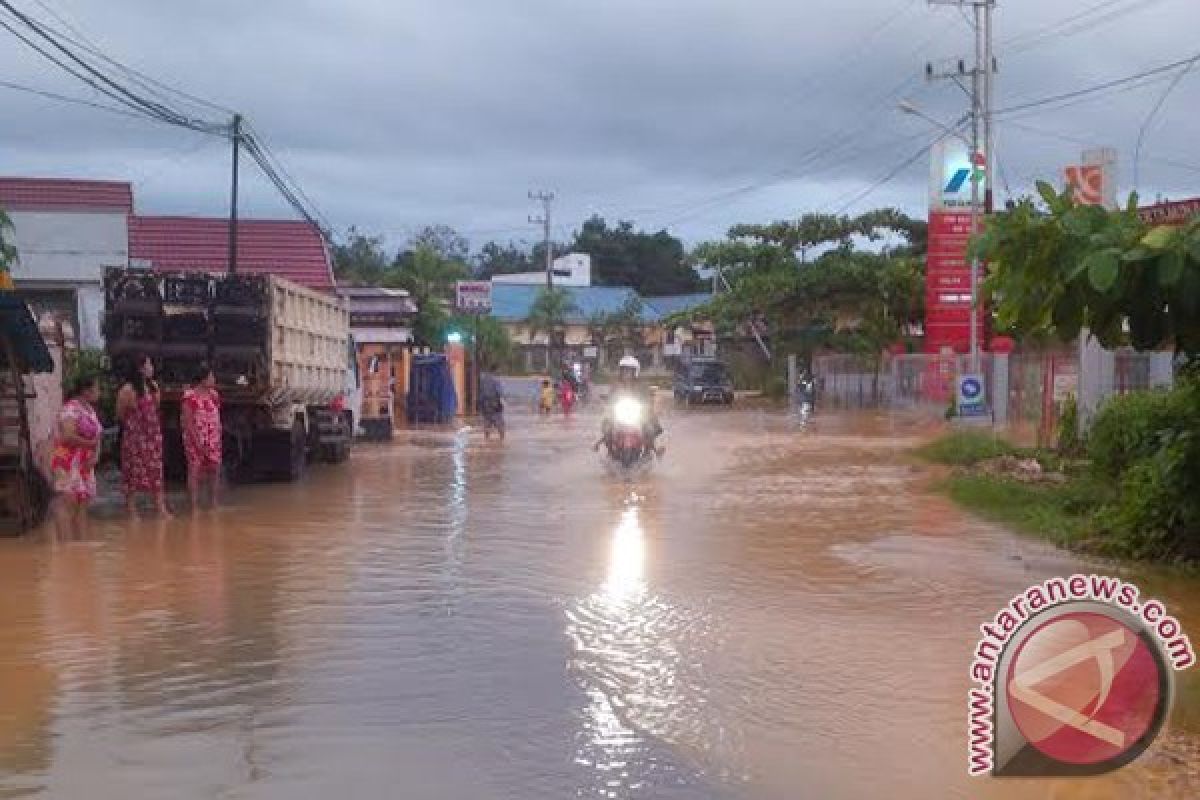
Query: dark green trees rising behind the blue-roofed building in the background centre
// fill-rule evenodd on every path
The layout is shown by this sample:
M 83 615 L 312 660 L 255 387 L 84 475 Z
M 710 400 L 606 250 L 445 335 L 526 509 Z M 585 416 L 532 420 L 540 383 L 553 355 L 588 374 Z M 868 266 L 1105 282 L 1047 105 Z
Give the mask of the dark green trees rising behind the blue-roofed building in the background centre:
M 596 285 L 631 287 L 647 296 L 695 291 L 700 285 L 683 242 L 665 230 L 644 233 L 624 221 L 610 228 L 593 216 L 576 231 L 570 249 L 592 255 Z

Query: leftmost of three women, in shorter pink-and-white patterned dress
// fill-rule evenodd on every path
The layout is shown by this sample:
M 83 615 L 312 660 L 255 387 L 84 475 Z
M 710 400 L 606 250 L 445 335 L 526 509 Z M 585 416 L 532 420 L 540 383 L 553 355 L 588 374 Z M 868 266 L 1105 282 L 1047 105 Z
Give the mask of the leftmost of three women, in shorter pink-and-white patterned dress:
M 103 432 L 96 414 L 98 399 L 96 379 L 80 378 L 71 387 L 55 425 L 49 456 L 54 488 L 50 518 L 61 537 L 84 533 L 88 504 L 96 498 L 96 458 Z

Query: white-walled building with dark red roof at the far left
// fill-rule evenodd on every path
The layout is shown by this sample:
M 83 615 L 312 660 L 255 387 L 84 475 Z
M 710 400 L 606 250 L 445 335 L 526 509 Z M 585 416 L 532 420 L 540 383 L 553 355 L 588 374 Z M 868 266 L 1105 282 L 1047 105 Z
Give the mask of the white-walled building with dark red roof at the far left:
M 35 313 L 68 320 L 82 347 L 103 347 L 104 269 L 130 260 L 130 184 L 0 178 L 0 209 L 13 224 L 17 291 Z

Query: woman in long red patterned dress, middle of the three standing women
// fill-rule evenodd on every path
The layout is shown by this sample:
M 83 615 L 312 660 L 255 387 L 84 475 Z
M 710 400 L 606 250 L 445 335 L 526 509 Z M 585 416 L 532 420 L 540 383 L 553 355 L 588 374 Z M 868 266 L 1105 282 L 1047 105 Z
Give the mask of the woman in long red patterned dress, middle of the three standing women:
M 137 495 L 154 498 L 158 513 L 169 517 L 162 482 L 162 422 L 158 419 L 160 392 L 154 380 L 154 363 L 146 356 L 134 360 L 128 381 L 116 392 L 116 419 L 121 422 L 121 482 L 125 507 L 137 516 Z

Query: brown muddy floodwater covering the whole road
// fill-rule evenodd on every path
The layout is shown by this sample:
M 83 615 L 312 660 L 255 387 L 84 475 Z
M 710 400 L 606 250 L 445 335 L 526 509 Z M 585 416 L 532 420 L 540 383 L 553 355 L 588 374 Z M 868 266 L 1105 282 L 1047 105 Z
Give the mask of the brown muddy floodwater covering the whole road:
M 673 413 L 626 485 L 595 419 L 510 423 L 0 541 L 0 798 L 1200 796 L 1196 669 L 1124 770 L 967 777 L 978 625 L 1097 567 L 930 491 L 920 428 Z M 1200 638 L 1200 583 L 1122 575 Z

